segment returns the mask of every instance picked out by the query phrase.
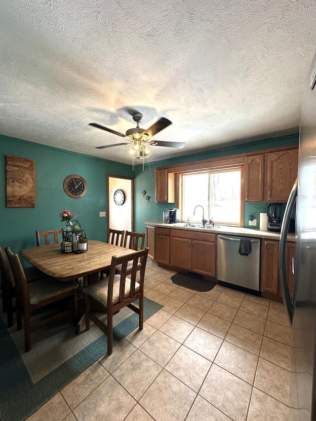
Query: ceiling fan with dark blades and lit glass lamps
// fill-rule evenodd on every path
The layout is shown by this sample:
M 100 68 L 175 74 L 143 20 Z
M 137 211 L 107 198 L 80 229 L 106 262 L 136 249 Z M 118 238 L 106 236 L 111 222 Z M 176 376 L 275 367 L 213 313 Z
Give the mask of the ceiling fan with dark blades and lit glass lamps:
M 185 147 L 185 142 L 167 142 L 160 140 L 152 140 L 151 137 L 155 136 L 158 132 L 169 126 L 171 123 L 167 118 L 161 117 L 156 123 L 150 126 L 147 130 L 139 127 L 139 123 L 143 119 L 141 113 L 133 113 L 133 120 L 136 122 L 136 127 L 128 129 L 125 134 L 119 133 L 115 130 L 109 129 L 108 127 L 101 126 L 97 123 L 89 123 L 89 126 L 97 127 L 98 129 L 105 130 L 107 132 L 116 134 L 120 137 L 125 138 L 129 142 L 115 143 L 112 145 L 97 146 L 96 149 L 112 148 L 113 146 L 128 145 L 125 150 L 125 154 L 131 158 L 144 159 L 148 158 L 152 153 L 150 150 L 151 146 L 165 146 L 167 148 L 179 148 Z

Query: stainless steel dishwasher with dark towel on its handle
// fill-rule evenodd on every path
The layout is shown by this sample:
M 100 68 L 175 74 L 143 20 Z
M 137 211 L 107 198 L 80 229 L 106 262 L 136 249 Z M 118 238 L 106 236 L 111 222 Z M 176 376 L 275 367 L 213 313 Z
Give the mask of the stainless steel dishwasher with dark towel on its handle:
M 241 244 L 248 246 L 247 251 L 251 248 L 247 256 L 239 254 L 242 240 L 245 241 Z M 216 277 L 219 284 L 260 291 L 260 249 L 260 238 L 218 234 Z

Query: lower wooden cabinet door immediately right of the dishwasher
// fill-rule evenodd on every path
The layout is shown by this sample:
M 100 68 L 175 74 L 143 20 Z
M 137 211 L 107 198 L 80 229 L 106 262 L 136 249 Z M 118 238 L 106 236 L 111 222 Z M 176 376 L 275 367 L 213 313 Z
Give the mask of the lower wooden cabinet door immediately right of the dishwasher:
M 278 293 L 278 241 L 262 242 L 261 291 Z

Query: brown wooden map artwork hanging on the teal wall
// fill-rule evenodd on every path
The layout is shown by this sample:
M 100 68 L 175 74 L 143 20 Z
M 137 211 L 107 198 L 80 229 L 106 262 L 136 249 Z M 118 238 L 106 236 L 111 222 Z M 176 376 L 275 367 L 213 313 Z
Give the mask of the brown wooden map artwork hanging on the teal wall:
M 6 207 L 35 208 L 35 161 L 6 155 Z

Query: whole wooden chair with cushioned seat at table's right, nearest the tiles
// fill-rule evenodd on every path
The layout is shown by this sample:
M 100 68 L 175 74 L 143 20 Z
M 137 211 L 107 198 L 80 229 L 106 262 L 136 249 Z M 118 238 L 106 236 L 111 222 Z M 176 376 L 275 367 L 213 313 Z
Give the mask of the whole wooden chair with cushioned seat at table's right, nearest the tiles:
M 148 256 L 148 248 L 135 251 L 127 256 L 113 256 L 110 267 L 110 275 L 106 279 L 88 285 L 84 288 L 85 301 L 85 323 L 86 330 L 90 329 L 90 320 L 93 321 L 108 337 L 108 354 L 113 350 L 113 314 L 121 308 L 128 306 L 139 314 L 139 329 L 143 329 L 144 324 L 144 275 Z M 140 279 L 136 281 L 137 265 L 142 259 L 140 268 Z M 126 268 L 128 262 L 132 261 L 131 278 L 126 278 Z M 117 265 L 122 265 L 120 275 L 115 273 Z M 107 313 L 107 324 L 104 324 L 95 313 L 91 311 L 91 299 L 105 307 Z M 138 306 L 133 304 L 139 300 Z

